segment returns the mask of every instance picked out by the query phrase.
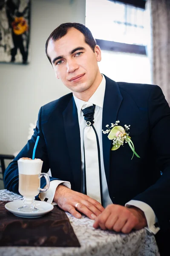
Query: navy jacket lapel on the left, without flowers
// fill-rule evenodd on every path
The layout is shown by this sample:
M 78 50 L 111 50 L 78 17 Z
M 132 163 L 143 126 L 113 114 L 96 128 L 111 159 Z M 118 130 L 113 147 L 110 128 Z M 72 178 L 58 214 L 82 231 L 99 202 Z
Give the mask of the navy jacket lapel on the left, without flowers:
M 63 121 L 75 189 L 81 191 L 81 140 L 77 107 L 73 97 L 63 111 Z

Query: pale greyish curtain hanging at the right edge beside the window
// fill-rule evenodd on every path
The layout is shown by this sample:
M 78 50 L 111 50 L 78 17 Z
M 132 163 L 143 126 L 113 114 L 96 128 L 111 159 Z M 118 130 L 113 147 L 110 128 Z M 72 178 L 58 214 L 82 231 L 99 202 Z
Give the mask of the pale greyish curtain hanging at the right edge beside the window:
M 150 13 L 151 71 L 170 105 L 170 0 L 147 0 Z

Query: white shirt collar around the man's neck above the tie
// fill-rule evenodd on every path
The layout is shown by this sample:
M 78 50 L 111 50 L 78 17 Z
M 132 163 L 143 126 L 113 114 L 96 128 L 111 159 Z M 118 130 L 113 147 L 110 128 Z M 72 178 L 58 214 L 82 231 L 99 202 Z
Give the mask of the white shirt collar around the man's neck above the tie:
M 101 83 L 99 84 L 97 90 L 90 97 L 88 102 L 103 108 L 105 88 L 106 88 L 106 79 L 105 79 L 104 75 L 102 75 Z M 80 114 L 81 113 L 81 108 L 83 107 L 85 101 L 83 101 L 81 99 L 78 99 L 74 94 L 73 94 L 73 97 L 74 97 L 74 100 L 75 100 L 75 105 L 78 109 L 78 113 Z

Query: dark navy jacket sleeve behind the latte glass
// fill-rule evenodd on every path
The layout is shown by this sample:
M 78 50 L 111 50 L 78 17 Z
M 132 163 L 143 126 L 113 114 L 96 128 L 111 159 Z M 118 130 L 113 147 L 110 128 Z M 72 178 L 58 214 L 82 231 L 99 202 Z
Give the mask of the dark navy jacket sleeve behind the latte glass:
M 27 142 L 27 144 L 24 146 L 24 148 L 20 151 L 20 153 L 14 158 L 14 160 L 9 164 L 7 167 L 5 173 L 4 173 L 4 186 L 5 189 L 8 189 L 12 192 L 19 193 L 18 192 L 18 166 L 17 166 L 17 160 L 19 160 L 21 157 L 29 157 L 32 158 L 33 148 L 35 146 L 35 142 L 37 139 L 37 136 L 40 136 L 40 139 L 37 144 L 35 157 L 40 158 L 43 161 L 43 167 L 42 172 L 48 172 L 49 171 L 49 159 L 46 149 L 46 142 L 43 136 L 43 133 L 41 131 L 41 112 L 42 108 L 40 108 L 39 114 L 38 114 L 38 120 L 37 120 L 37 126 L 34 129 L 34 134 Z M 57 180 L 57 178 L 50 177 L 50 181 Z M 40 179 L 40 187 L 43 188 L 46 185 L 46 180 L 44 177 Z

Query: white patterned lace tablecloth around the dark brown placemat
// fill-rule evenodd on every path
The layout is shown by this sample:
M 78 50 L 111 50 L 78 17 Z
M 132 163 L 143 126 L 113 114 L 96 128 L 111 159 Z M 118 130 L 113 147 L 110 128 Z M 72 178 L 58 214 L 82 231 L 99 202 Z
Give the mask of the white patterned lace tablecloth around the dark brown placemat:
M 22 196 L 0 190 L 0 201 L 21 200 Z M 66 212 L 81 247 L 0 247 L 0 256 L 160 256 L 155 237 L 146 229 L 128 235 L 92 227 L 93 220 Z

